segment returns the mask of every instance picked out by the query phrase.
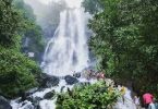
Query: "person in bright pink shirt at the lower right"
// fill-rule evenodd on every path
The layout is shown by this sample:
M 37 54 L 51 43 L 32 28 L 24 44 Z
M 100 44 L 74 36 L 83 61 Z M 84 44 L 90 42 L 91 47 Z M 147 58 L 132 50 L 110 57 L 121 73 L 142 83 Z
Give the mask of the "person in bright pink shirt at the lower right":
M 153 102 L 154 96 L 149 93 L 143 95 L 143 102 L 145 108 L 147 109 L 149 104 Z

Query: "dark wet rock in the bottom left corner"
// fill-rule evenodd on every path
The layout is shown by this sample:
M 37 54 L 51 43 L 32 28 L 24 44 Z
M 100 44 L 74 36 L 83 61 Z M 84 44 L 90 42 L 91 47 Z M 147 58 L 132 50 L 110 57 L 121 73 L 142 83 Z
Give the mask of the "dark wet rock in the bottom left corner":
M 2 96 L 0 96 L 0 109 L 12 109 L 10 102 Z

